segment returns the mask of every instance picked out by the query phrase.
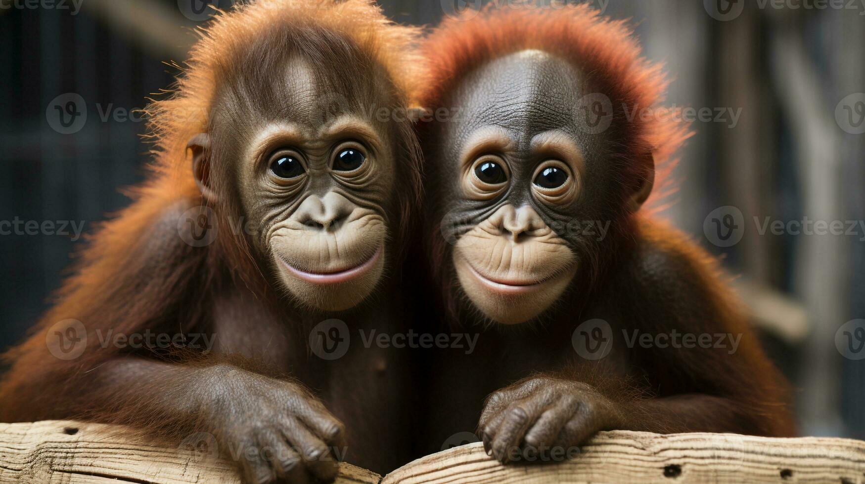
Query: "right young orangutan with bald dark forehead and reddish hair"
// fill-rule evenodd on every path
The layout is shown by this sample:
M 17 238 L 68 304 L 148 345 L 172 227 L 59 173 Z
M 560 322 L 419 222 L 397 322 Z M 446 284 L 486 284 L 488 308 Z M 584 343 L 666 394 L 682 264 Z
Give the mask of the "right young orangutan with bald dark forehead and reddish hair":
M 432 283 L 482 332 L 430 366 L 424 450 L 476 429 L 502 462 L 599 430 L 790 435 L 715 261 L 640 211 L 688 132 L 631 30 L 585 5 L 467 11 L 421 54 Z

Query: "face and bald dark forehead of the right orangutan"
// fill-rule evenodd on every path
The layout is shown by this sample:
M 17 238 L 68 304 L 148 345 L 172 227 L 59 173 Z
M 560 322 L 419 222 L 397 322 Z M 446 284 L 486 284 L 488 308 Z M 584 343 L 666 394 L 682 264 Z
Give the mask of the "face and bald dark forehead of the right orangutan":
M 577 69 L 539 51 L 494 60 L 461 86 L 438 155 L 448 166 L 438 181 L 445 237 L 458 240 L 452 260 L 472 303 L 493 321 L 526 322 L 586 271 L 593 241 L 573 220 L 612 216 L 598 208 L 612 188 L 604 140 L 574 107 L 591 91 Z

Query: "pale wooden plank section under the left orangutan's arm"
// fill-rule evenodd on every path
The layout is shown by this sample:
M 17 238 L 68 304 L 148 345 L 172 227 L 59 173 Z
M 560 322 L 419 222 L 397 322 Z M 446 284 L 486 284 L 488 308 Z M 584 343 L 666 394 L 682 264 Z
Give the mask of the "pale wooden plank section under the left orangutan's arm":
M 208 449 L 207 436 L 190 436 L 186 444 L 171 448 L 105 424 L 0 424 L 0 484 L 240 484 L 232 463 Z M 336 482 L 380 480 L 378 474 L 343 463 Z

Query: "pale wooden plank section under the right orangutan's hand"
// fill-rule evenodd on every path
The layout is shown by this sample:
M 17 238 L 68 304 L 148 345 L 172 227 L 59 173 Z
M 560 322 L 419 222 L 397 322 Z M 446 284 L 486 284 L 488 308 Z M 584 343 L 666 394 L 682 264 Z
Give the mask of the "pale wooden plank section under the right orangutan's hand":
M 481 443 L 427 455 L 381 484 L 444 482 L 865 482 L 865 442 L 735 434 L 601 432 L 579 456 L 551 465 L 492 461 Z

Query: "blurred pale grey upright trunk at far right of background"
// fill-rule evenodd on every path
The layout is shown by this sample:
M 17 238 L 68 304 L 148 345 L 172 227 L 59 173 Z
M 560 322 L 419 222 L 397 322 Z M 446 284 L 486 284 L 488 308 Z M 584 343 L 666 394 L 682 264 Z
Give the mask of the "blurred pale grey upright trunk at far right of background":
M 796 143 L 803 215 L 811 220 L 836 220 L 843 213 L 838 190 L 843 186 L 838 127 L 834 109 L 830 112 L 820 95 L 821 82 L 808 58 L 799 20 L 790 12 L 779 12 L 773 18 L 773 77 Z M 835 334 L 848 308 L 847 284 L 841 275 L 849 267 L 849 245 L 836 236 L 800 235 L 796 242 L 795 290 L 811 315 L 803 392 L 799 394 L 802 430 L 806 435 L 844 435 L 839 416 L 842 366 Z

